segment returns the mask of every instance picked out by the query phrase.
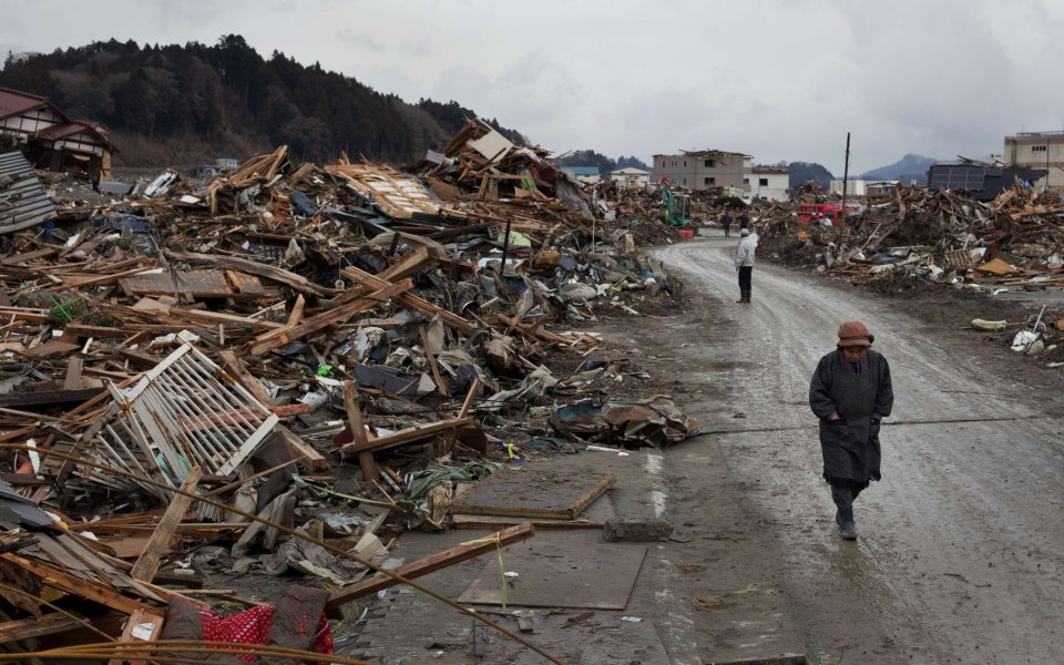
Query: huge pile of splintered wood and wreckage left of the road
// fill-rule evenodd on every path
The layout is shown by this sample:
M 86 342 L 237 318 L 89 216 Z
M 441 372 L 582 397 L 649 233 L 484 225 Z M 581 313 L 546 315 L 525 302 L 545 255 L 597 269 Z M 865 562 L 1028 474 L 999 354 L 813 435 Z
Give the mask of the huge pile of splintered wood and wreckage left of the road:
M 0 155 L 8 651 L 89 624 L 124 645 L 108 654 L 232 631 L 260 637 L 247 657 L 329 653 L 345 604 L 533 534 L 382 571 L 403 529 L 451 525 L 456 483 L 697 432 L 665 397 L 602 401 L 631 368 L 586 358 L 582 326 L 676 297 L 638 250 L 662 237 L 653 203 L 479 121 L 406 172 L 280 146 L 202 186 L 166 171 L 59 196 L 23 166 Z M 247 572 L 336 589 L 211 587 Z M 215 598 L 268 604 L 223 617 Z M 299 622 L 319 630 L 284 634 Z

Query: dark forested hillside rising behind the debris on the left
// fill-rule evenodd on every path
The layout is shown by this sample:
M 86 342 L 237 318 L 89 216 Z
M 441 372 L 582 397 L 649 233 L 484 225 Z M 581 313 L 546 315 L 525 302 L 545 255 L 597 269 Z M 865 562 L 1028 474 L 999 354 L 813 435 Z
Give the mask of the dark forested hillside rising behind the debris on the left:
M 346 151 L 401 164 L 440 147 L 474 115 L 453 101 L 408 104 L 276 51 L 264 59 L 235 34 L 211 47 L 111 40 L 9 55 L 0 86 L 48 96 L 69 115 L 102 124 L 121 150 L 120 165 L 244 157 L 279 144 L 316 162 Z

